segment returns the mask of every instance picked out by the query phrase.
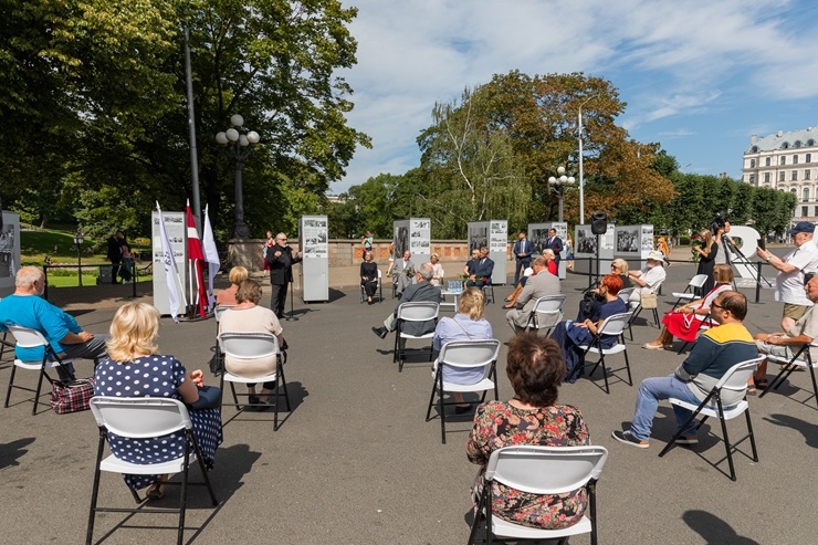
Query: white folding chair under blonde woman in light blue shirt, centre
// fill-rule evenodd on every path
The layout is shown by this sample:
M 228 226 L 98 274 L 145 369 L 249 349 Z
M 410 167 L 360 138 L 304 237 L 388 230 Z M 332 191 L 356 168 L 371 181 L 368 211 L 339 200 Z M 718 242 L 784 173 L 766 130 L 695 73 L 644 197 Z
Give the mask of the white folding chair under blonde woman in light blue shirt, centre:
M 426 411 L 426 421 L 431 420 L 432 403 L 434 394 L 438 394 L 438 411 L 440 412 L 440 433 L 445 444 L 445 406 L 455 405 L 455 401 L 443 401 L 443 395 L 449 392 L 469 392 L 482 391 L 483 396 L 480 402 L 485 401 L 485 394 L 494 390 L 494 400 L 499 398 L 497 392 L 497 355 L 500 354 L 500 340 L 474 339 L 474 340 L 454 340 L 447 343 L 440 349 L 440 355 L 434 361 L 434 382 L 432 384 L 432 395 L 429 398 L 429 408 Z M 450 366 L 455 369 L 476 369 L 482 368 L 483 378 L 475 384 L 461 385 L 447 382 L 443 380 L 443 366 Z

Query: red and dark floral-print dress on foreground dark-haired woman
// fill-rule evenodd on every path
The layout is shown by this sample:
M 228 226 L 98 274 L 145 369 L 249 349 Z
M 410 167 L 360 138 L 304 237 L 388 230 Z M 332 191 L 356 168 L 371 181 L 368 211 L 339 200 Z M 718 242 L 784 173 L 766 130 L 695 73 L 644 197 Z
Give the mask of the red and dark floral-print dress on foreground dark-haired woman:
M 590 437 L 583 413 L 569 405 L 532 410 L 517 409 L 504 401 L 481 405 L 465 449 L 469 461 L 485 470 L 493 451 L 517 444 L 579 447 L 590 444 Z M 481 475 L 481 491 L 482 483 Z M 583 518 L 587 501 L 584 488 L 565 494 L 537 495 L 492 483 L 492 514 L 523 526 L 545 530 L 573 526 Z

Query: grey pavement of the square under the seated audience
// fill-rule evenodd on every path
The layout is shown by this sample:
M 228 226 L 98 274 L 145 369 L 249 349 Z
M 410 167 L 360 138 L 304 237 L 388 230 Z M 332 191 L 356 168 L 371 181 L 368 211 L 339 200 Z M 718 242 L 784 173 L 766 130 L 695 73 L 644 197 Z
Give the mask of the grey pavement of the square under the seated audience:
M 684 287 L 693 265 L 669 269 L 664 293 Z M 355 273 L 355 271 L 353 271 Z M 587 285 L 584 277 L 564 281 L 567 316 L 573 317 Z M 355 283 L 353 283 L 355 286 Z M 123 286 L 109 286 L 114 290 Z M 122 297 L 87 287 L 82 297 L 54 293 L 73 308 L 92 332 L 105 332 Z M 496 295 L 508 289 L 497 287 Z M 102 290 L 101 290 L 102 292 Z M 744 290 L 751 297 L 751 290 Z M 268 292 L 269 293 L 269 292 Z M 141 294 L 150 301 L 149 294 Z M 72 298 L 73 297 L 73 298 Z M 780 304 L 772 292 L 752 304 L 746 322 L 751 332 L 776 328 Z M 660 305 L 672 304 L 669 295 Z M 295 301 L 297 322 L 284 322 L 291 345 L 286 378 L 293 410 L 276 432 L 272 415 L 235 417 L 223 413 L 224 443 L 211 473 L 221 501 L 209 507 L 206 494 L 189 495 L 186 541 L 196 544 L 258 542 L 276 544 L 457 544 L 465 543 L 471 520 L 469 488 L 476 468 L 468 462 L 464 444 L 469 417 L 452 418 L 448 443 L 440 443 L 438 420 L 424 421 L 431 391 L 427 363 L 407 364 L 402 373 L 391 361 L 392 339 L 369 331 L 395 301 L 375 305 L 358 302 L 357 287 L 331 291 L 328 303 Z M 511 331 L 500 304 L 489 305 L 495 337 L 505 342 Z M 806 544 L 815 543 L 816 484 L 812 461 L 818 447 L 818 409 L 809 376 L 794 374 L 779 391 L 751 398 L 759 462 L 736 454 L 737 482 L 726 471 L 724 448 L 704 436 L 700 446 L 658 453 L 673 428 L 669 406 L 660 407 L 650 449 L 638 450 L 610 438 L 629 422 L 639 380 L 669 374 L 684 356 L 648 352 L 640 345 L 658 329 L 640 321 L 635 342 L 628 343 L 635 386 L 612 379 L 611 392 L 600 388 L 601 375 L 564 385 L 560 401 L 579 407 L 592 441 L 609 450 L 598 485 L 600 543 L 638 544 Z M 159 345 L 189 368 L 203 367 L 214 338 L 211 319 L 174 324 L 162 318 Z M 410 344 L 410 346 L 412 346 Z M 512 390 L 505 378 L 505 347 L 501 352 L 500 396 Z M 609 365 L 623 377 L 621 358 Z M 91 365 L 80 370 L 91 374 Z M 31 374 L 22 380 L 33 381 Z M 208 384 L 218 379 L 207 374 Z M 9 379 L 8 357 L 0 363 L 0 391 Z M 0 535 L 7 543 L 82 543 L 93 475 L 97 431 L 90 412 L 30 415 L 30 405 L 14 392 L 2 410 L 0 428 Z M 704 431 L 721 431 L 707 422 Z M 731 421 L 733 437 L 743 430 Z M 748 446 L 742 444 L 747 451 Z M 192 475 L 197 470 L 192 470 Z M 171 489 L 159 505 L 178 499 Z M 101 504 L 129 505 L 126 486 L 115 475 L 103 475 Z M 175 517 L 139 515 L 116 527 L 124 515 L 97 520 L 96 539 L 106 544 L 172 543 Z M 195 528 L 199 528 L 198 531 Z M 107 534 L 108 531 L 113 533 Z M 574 545 L 588 538 L 571 539 Z

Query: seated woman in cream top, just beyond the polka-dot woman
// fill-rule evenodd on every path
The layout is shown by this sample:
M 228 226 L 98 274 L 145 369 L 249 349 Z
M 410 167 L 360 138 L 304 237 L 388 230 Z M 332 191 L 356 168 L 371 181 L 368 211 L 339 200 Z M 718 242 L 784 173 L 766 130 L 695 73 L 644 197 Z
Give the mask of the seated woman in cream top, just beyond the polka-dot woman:
M 279 347 L 284 349 L 283 329 L 275 313 L 264 306 L 259 306 L 261 301 L 261 284 L 252 279 L 244 280 L 235 292 L 237 305 L 228 308 L 219 321 L 219 334 L 222 333 L 271 333 L 279 339 Z M 231 375 L 243 378 L 258 378 L 275 373 L 276 358 L 234 359 L 228 355 L 224 357 L 224 369 Z M 248 385 L 248 398 L 250 403 L 265 403 L 270 398 L 275 382 L 264 382 L 261 395 L 255 395 L 255 385 Z M 266 410 L 262 407 L 261 410 Z M 256 410 L 258 408 L 253 408 Z

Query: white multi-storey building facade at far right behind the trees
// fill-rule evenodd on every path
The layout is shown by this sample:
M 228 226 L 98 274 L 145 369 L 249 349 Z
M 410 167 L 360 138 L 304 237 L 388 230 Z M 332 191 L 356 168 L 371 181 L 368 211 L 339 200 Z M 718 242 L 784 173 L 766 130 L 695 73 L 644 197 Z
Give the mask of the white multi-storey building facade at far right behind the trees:
M 744 151 L 742 181 L 795 193 L 794 220 L 818 221 L 818 126 L 753 135 Z

